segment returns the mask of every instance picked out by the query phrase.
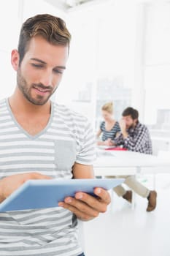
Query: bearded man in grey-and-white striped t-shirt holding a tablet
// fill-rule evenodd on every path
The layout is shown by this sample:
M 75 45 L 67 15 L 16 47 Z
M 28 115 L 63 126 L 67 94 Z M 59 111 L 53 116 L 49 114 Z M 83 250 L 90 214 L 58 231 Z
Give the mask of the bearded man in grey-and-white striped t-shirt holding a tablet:
M 93 178 L 93 132 L 83 116 L 50 101 L 69 55 L 61 18 L 36 15 L 23 23 L 11 63 L 17 85 L 0 102 L 0 202 L 28 179 Z M 56 208 L 0 213 L 0 255 L 84 255 L 77 218 L 107 210 L 109 193 L 77 192 Z

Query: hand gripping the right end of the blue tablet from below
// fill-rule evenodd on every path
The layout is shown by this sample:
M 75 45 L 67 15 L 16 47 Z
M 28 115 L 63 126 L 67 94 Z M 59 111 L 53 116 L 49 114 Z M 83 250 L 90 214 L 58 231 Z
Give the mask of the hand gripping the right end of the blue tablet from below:
M 64 202 L 58 203 L 58 206 L 72 211 L 78 219 L 88 221 L 97 217 L 99 213 L 107 211 L 107 205 L 111 201 L 107 190 L 96 188 L 94 194 L 97 197 L 77 192 L 75 197 L 66 197 Z

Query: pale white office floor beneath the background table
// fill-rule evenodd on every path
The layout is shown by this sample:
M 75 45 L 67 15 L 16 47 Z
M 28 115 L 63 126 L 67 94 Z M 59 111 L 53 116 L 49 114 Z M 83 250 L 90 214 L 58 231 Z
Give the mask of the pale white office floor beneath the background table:
M 152 189 L 152 176 L 139 180 Z M 113 195 L 107 213 L 83 223 L 86 256 L 169 256 L 170 174 L 156 176 L 158 204 L 148 213 L 147 200 L 136 195 L 135 208 Z

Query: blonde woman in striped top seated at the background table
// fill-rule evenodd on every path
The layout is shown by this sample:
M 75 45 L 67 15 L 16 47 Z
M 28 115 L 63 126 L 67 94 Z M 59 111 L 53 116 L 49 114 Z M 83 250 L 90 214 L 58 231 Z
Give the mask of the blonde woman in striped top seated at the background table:
M 117 133 L 120 132 L 119 123 L 115 120 L 113 112 L 112 102 L 104 104 L 101 108 L 104 121 L 101 122 L 100 129 L 96 134 L 97 138 L 102 134 L 102 140 L 97 141 L 98 146 L 107 146 L 110 141 L 116 138 Z

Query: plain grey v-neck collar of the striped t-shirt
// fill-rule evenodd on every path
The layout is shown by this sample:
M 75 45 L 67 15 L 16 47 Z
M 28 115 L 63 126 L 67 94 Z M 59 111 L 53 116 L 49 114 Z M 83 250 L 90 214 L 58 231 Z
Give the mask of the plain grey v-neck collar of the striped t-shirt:
M 42 129 L 41 132 L 38 132 L 36 135 L 31 135 L 29 134 L 28 132 L 26 132 L 25 129 L 23 129 L 23 127 L 20 126 L 20 124 L 18 123 L 18 121 L 16 120 L 14 114 L 12 113 L 12 110 L 10 108 L 10 105 L 9 105 L 9 99 L 6 99 L 6 104 L 7 104 L 7 109 L 9 111 L 9 115 L 11 116 L 12 118 L 12 121 L 14 121 L 15 125 L 18 127 L 18 129 L 20 129 L 21 132 L 23 132 L 29 139 L 31 140 L 35 140 L 36 138 L 39 138 L 39 136 L 41 136 L 43 133 L 45 133 L 48 129 L 48 127 L 50 127 L 50 124 L 52 122 L 52 119 L 53 119 L 53 112 L 54 112 L 54 106 L 53 106 L 53 102 L 51 101 L 51 113 L 50 113 L 50 118 L 47 122 L 47 125 L 45 126 L 44 129 Z

